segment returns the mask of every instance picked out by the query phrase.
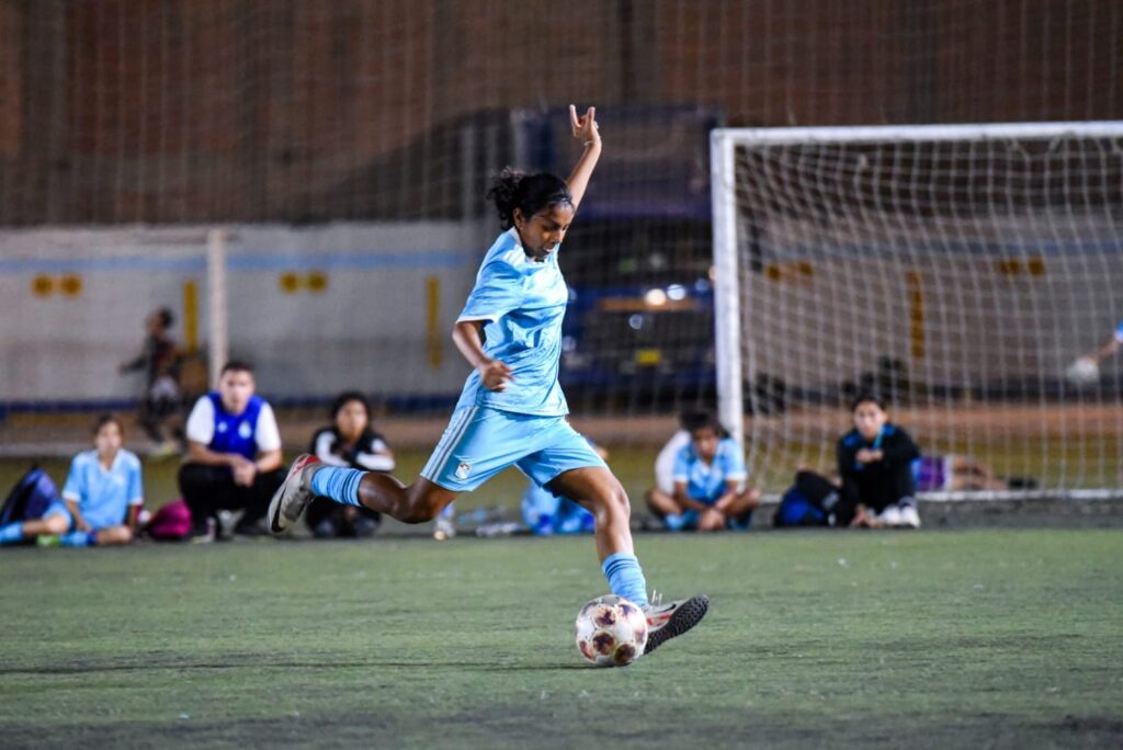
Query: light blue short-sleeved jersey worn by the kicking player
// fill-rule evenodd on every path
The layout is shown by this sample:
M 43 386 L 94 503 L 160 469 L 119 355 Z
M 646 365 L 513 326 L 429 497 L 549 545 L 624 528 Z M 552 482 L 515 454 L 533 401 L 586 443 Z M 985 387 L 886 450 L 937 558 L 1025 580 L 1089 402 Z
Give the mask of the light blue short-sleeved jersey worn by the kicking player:
M 504 231 L 487 250 L 476 285 L 457 322 L 485 320 L 484 353 L 511 368 L 503 392 L 483 386 L 478 372 L 464 384 L 456 404 L 536 417 L 562 417 L 569 409 L 558 385 L 562 319 L 569 292 L 557 250 L 541 263 L 527 257 L 519 234 Z

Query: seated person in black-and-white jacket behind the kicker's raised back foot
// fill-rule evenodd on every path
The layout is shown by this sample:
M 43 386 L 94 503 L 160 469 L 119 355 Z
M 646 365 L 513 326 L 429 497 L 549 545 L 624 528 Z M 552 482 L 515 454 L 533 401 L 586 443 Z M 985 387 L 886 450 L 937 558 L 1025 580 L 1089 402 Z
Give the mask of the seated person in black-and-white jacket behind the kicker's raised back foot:
M 317 431 L 309 452 L 328 466 L 366 472 L 393 472 L 394 454 L 385 439 L 371 428 L 371 403 L 362 393 L 341 393 L 331 403 L 331 426 Z M 304 523 L 321 538 L 369 537 L 382 515 L 367 507 L 340 505 L 317 497 L 304 511 Z

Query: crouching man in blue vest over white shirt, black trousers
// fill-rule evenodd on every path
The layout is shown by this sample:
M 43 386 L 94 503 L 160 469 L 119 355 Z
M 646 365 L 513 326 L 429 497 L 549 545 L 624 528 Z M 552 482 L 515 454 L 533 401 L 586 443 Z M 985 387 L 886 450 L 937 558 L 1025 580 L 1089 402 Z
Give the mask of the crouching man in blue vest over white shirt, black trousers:
M 216 538 L 220 510 L 244 511 L 235 533 L 266 533 L 261 519 L 284 470 L 273 409 L 254 395 L 255 387 L 249 365 L 227 363 L 218 390 L 201 396 L 188 418 L 188 456 L 179 479 L 198 541 Z

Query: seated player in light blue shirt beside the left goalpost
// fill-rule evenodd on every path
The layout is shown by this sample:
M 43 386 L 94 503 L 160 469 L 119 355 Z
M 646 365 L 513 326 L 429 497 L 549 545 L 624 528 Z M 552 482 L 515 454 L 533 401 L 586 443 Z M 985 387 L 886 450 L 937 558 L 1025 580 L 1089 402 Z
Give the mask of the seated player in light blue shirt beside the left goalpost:
M 672 531 L 748 529 L 760 493 L 745 488 L 748 474 L 741 447 L 728 437 L 718 420 L 709 417 L 691 430 L 691 442 L 675 460 L 675 493 L 666 502 L 650 494 L 648 506 Z

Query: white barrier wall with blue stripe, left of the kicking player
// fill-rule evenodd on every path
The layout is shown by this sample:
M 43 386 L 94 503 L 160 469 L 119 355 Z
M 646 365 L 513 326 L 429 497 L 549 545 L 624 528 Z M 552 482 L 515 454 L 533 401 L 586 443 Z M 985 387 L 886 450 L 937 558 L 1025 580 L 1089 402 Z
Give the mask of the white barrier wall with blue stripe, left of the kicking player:
M 134 397 L 153 310 L 206 349 L 210 227 L 0 232 L 0 401 Z M 449 331 L 491 236 L 418 222 L 225 227 L 229 351 L 273 397 L 455 394 Z M 192 314 L 194 308 L 195 314 Z

